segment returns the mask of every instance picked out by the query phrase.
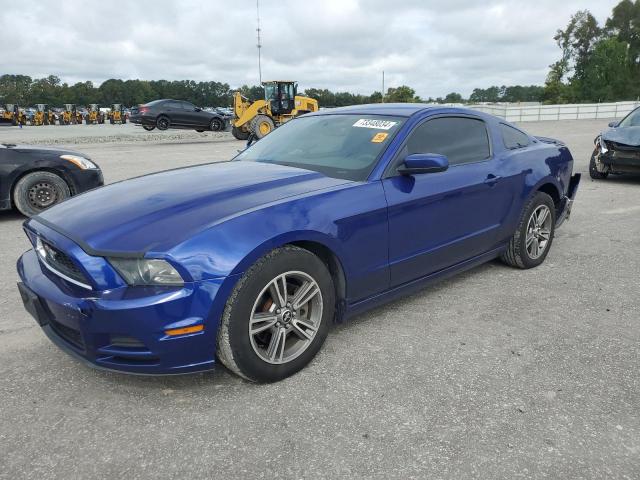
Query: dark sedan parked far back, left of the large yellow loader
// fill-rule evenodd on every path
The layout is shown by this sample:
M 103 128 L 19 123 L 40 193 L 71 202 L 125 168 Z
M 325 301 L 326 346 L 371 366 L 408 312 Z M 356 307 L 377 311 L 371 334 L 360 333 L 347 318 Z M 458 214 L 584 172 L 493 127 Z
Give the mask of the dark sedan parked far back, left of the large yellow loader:
M 145 130 L 184 128 L 217 132 L 226 128 L 226 120 L 219 113 L 207 112 L 182 100 L 154 100 L 131 109 L 129 121 Z

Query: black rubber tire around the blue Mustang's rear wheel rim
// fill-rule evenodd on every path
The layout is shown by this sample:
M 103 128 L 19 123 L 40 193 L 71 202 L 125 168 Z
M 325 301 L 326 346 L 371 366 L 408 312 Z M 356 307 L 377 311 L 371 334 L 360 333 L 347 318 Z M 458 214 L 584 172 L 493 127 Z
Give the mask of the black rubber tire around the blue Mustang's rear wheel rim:
M 527 249 L 527 234 L 529 233 L 530 221 L 533 213 L 540 207 L 546 206 L 549 210 L 551 222 L 549 227 L 549 238 L 544 245 L 542 253 L 533 257 Z M 520 221 L 518 222 L 518 228 L 509 241 L 507 250 L 501 255 L 500 259 L 516 268 L 533 268 L 544 262 L 547 258 L 551 245 L 553 243 L 553 237 L 556 228 L 556 207 L 553 203 L 553 199 L 544 192 L 536 192 L 535 195 L 527 202 L 522 210 Z M 538 242 L 538 240 L 535 240 Z

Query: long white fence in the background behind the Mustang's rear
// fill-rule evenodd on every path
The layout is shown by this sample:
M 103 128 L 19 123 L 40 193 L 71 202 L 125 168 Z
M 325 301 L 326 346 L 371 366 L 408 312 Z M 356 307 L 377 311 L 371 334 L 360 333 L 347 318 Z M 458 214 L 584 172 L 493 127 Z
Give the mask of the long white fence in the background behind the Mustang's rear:
M 638 106 L 640 106 L 640 102 L 571 105 L 469 105 L 470 108 L 502 117 L 509 122 L 622 118 Z

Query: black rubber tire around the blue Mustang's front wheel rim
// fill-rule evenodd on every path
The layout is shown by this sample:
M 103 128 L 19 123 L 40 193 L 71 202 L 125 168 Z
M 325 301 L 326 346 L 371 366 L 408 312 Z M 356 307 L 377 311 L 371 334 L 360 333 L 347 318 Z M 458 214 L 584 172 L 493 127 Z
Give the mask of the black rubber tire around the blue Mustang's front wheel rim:
M 260 292 L 282 273 L 293 271 L 302 272 L 316 282 L 320 291 L 320 298 L 317 296 L 316 298 L 318 305 L 322 306 L 322 312 L 319 315 L 319 323 L 316 324 L 315 336 L 297 356 L 285 363 L 270 363 L 261 358 L 252 345 L 253 340 L 249 334 L 250 318 L 254 305 L 261 298 Z M 254 382 L 282 380 L 301 370 L 315 357 L 327 337 L 334 313 L 333 280 L 325 264 L 313 253 L 302 248 L 294 246 L 276 248 L 247 270 L 231 293 L 218 329 L 218 358 L 229 370 L 247 380 Z M 289 318 L 291 318 L 290 315 Z M 273 335 L 270 329 L 264 332 L 267 335 Z M 288 332 L 285 336 L 293 340 L 295 346 L 299 337 L 293 336 L 296 335 L 293 329 Z

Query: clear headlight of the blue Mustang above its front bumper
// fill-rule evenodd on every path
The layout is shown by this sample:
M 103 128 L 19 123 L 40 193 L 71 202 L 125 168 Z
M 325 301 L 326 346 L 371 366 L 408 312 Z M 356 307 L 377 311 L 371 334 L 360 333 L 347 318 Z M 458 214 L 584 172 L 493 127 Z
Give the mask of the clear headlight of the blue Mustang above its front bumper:
M 129 285 L 184 285 L 168 262 L 147 258 L 110 258 L 109 262 Z

